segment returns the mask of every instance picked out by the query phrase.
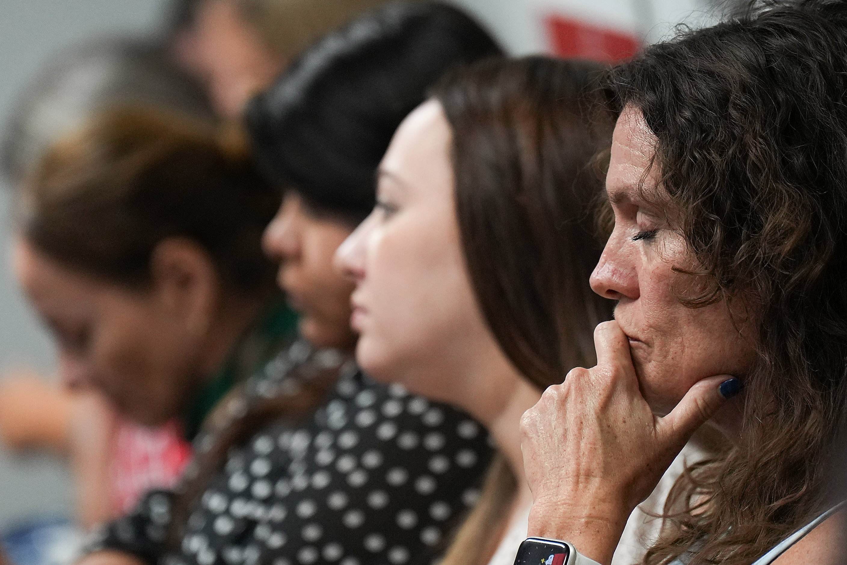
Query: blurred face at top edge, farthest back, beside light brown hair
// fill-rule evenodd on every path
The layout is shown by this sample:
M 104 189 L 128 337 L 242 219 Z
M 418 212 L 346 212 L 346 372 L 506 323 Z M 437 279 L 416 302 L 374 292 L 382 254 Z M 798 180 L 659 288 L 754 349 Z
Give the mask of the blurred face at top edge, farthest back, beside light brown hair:
M 191 28 L 177 37 L 180 64 L 208 88 L 215 110 L 238 118 L 247 100 L 280 74 L 283 61 L 268 49 L 241 15 L 235 0 L 197 4 Z

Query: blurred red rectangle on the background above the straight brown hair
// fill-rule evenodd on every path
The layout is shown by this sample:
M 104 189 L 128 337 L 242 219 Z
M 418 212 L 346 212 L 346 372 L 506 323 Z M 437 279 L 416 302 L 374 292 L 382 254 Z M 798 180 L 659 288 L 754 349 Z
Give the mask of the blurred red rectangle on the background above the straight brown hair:
M 617 63 L 638 52 L 641 42 L 620 30 L 588 25 L 579 19 L 550 15 L 545 18 L 553 53 L 559 57 L 587 58 Z

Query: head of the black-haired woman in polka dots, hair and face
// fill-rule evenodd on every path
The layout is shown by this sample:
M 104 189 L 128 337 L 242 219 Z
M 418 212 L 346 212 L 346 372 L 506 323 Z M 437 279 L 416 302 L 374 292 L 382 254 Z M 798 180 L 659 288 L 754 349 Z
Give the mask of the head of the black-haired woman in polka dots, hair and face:
M 355 343 L 352 285 L 332 258 L 374 208 L 375 170 L 397 126 L 447 69 L 500 53 L 440 3 L 390 4 L 379 14 L 379 28 L 361 19 L 329 36 L 247 111 L 258 162 L 285 188 L 265 246 L 281 259 L 280 285 L 316 343 L 337 328 Z

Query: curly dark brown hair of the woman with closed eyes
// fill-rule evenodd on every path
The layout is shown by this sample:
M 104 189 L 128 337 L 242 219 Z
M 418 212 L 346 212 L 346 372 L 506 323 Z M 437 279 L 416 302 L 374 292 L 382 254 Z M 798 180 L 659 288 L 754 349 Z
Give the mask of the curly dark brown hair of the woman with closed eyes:
M 673 527 L 647 563 L 750 563 L 833 494 L 847 399 L 845 24 L 843 0 L 751 3 L 608 77 L 612 109 L 639 108 L 656 135 L 689 274 L 711 283 L 684 302 L 743 296 L 759 310 L 740 443 L 679 479 Z

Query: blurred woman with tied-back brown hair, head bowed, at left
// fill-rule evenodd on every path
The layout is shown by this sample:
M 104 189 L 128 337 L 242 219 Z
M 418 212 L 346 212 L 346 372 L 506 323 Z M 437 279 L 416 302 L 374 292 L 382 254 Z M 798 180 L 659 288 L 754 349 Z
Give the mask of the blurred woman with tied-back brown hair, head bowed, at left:
M 57 339 L 62 381 L 86 394 L 70 450 L 111 463 L 81 502 L 173 485 L 211 407 L 296 333 L 260 246 L 278 193 L 213 127 L 139 106 L 53 143 L 19 191 L 15 272 Z M 121 424 L 106 440 L 109 416 Z M 167 480 L 125 485 L 134 466 Z

